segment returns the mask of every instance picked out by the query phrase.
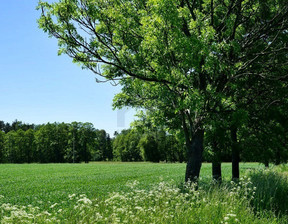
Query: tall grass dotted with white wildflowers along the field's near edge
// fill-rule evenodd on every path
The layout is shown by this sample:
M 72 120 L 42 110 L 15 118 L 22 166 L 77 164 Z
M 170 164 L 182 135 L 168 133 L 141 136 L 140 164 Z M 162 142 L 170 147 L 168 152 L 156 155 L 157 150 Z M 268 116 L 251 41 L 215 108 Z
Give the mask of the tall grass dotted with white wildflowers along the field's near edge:
M 257 195 L 249 178 L 197 190 L 193 184 L 180 189 L 169 182 L 150 190 L 139 188 L 138 181 L 126 186 L 129 191 L 102 199 L 69 195 L 46 211 L 2 204 L 1 223 L 287 223 L 272 212 L 254 213 L 251 202 Z

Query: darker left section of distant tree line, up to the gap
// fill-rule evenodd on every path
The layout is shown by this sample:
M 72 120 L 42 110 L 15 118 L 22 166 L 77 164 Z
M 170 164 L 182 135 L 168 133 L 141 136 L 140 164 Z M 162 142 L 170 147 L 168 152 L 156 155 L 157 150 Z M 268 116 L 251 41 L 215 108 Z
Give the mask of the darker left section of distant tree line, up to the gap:
M 0 162 L 64 163 L 112 160 L 112 142 L 91 123 L 12 124 L 0 121 Z

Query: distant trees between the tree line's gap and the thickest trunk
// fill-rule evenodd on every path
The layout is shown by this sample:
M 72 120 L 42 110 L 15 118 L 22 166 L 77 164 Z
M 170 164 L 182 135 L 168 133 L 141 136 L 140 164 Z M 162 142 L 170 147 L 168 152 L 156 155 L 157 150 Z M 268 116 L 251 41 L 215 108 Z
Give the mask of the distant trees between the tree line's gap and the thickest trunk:
M 118 161 L 186 161 L 185 145 L 161 129 L 143 133 L 132 128 L 116 133 L 113 155 Z

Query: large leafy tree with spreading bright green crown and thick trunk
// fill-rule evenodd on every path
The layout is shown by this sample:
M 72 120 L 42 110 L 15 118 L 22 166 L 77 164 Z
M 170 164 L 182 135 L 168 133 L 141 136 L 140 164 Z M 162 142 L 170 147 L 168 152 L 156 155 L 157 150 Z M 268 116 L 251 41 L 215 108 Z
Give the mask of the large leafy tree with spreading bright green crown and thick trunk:
M 59 0 L 38 8 L 59 54 L 122 85 L 115 106 L 150 109 L 183 131 L 186 181 L 199 177 L 209 119 L 233 117 L 239 88 L 287 83 L 285 0 Z

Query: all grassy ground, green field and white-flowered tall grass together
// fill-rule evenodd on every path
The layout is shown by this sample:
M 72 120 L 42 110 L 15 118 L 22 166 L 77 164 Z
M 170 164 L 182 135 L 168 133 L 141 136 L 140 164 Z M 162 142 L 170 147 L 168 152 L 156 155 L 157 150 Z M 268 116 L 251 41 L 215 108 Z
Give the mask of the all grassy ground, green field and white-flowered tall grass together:
M 181 184 L 185 164 L 1 164 L 1 223 L 288 223 L 288 181 L 281 170 L 241 164 L 249 177 Z M 287 199 L 287 201 L 286 201 Z

